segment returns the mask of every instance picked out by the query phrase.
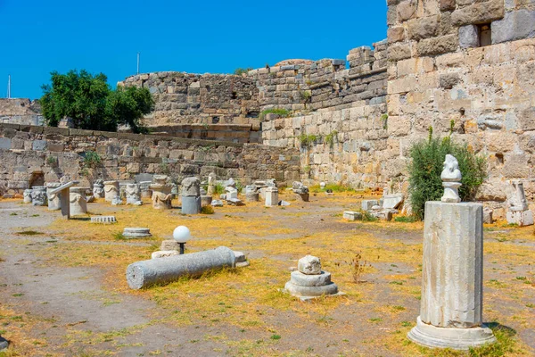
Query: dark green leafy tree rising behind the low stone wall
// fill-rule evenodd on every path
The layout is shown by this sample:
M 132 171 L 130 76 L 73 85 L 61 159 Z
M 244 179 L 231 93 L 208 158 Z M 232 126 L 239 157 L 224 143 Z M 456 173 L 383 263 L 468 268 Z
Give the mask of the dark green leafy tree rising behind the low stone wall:
M 87 71 L 51 73 L 52 85 L 43 85 L 40 99 L 48 126 L 57 127 L 63 118 L 70 118 L 76 129 L 117 131 L 121 124 L 138 133 L 144 114 L 152 111 L 154 101 L 146 88 L 119 87 L 111 90 L 103 73 Z

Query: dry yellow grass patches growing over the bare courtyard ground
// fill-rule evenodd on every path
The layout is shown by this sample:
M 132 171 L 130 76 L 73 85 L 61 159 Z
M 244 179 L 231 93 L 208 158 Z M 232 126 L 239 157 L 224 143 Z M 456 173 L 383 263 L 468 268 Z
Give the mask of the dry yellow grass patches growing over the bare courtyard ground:
M 318 194 L 320 195 L 320 194 Z M 315 197 L 317 209 L 333 204 L 343 209 L 358 208 L 358 195 L 336 195 L 335 197 Z M 84 220 L 65 222 L 58 220 L 46 228 L 54 236 L 64 239 L 59 245 L 47 246 L 42 256 L 45 264 L 64 266 L 97 266 L 105 271 L 103 285 L 112 294 L 128 294 L 143 297 L 157 303 L 153 311 L 154 319 L 176 326 L 201 323 L 206 326 L 234 326 L 243 330 L 267 331 L 271 322 L 281 313 L 292 315 L 292 327 L 288 331 L 274 330 L 275 333 L 291 334 L 290 328 L 303 328 L 313 324 L 318 331 L 343 335 L 347 326 L 333 318 L 340 311 L 372 311 L 373 319 L 364 323 L 367 328 L 388 326 L 384 321 L 393 321 L 388 332 L 379 339 L 370 339 L 366 345 L 376 345 L 383 351 L 403 355 L 427 356 L 429 350 L 407 343 L 406 334 L 414 325 L 416 316 L 409 322 L 401 316 L 407 312 L 407 301 L 416 302 L 420 297 L 420 264 L 422 262 L 421 243 L 405 243 L 397 237 L 400 231 L 421 234 L 423 224 L 397 222 L 347 222 L 338 218 L 329 220 L 332 226 L 315 226 L 313 232 L 303 234 L 292 222 L 315 219 L 314 209 L 301 210 L 301 203 L 292 203 L 292 208 L 265 208 L 261 203 L 245 207 L 218 208 L 214 215 L 182 216 L 176 211 L 155 211 L 149 204 L 136 208 L 105 207 L 102 214 L 113 214 L 119 221 L 114 225 L 92 225 Z M 98 207 L 98 206 L 94 206 Z M 340 210 L 342 211 L 342 210 Z M 340 212 L 338 211 L 338 212 Z M 325 216 L 333 217 L 336 212 L 325 211 Z M 308 223 L 305 223 L 308 224 Z M 167 286 L 134 291 L 128 288 L 125 271 L 128 264 L 149 259 L 150 253 L 158 250 L 164 238 L 170 238 L 173 228 L 185 225 L 193 232 L 193 240 L 186 245 L 190 252 L 226 245 L 235 250 L 253 252 L 251 266 L 239 270 L 223 270 L 207 274 L 201 278 L 182 278 Z M 485 254 L 489 261 L 499 260 L 514 266 L 533 262 L 535 250 L 516 245 L 520 241 L 532 242 L 535 236 L 526 228 L 503 228 L 503 223 L 486 226 Z M 152 239 L 122 241 L 114 238 L 125 227 L 149 227 L 155 236 Z M 383 238 L 376 231 L 383 231 Z M 504 230 L 501 233 L 491 231 Z M 504 239 L 502 239 L 504 238 Z M 87 244 L 90 241 L 92 244 Z M 142 245 L 130 245 L 130 242 Z M 360 253 L 371 264 L 364 271 L 370 282 L 355 284 L 350 271 L 350 260 Z M 305 254 L 322 258 L 325 270 L 333 273 L 333 280 L 347 293 L 345 297 L 318 299 L 313 303 L 301 303 L 298 299 L 279 292 L 279 288 L 289 279 L 289 267 L 297 264 L 297 259 Z M 397 272 L 397 266 L 404 272 Z M 391 267 L 391 269 L 389 269 Z M 391 270 L 391 271 L 390 271 Z M 377 278 L 377 277 L 380 277 Z M 395 303 L 383 303 L 377 299 L 377 287 L 383 284 Z M 501 281 L 507 286 L 507 294 L 516 301 L 529 299 L 533 294 L 531 286 L 521 283 Z M 485 286 L 499 289 L 499 286 L 485 281 Z M 533 309 L 515 311 L 510 317 L 499 312 L 499 306 L 492 303 L 493 293 L 486 297 L 485 314 L 491 320 L 504 324 L 517 323 L 525 328 L 534 328 L 530 313 Z M 503 302 L 504 296 L 496 296 Z M 414 304 L 414 303 L 413 303 Z M 377 320 L 374 320 L 377 319 Z M 128 333 L 128 331 L 125 331 Z M 88 338 L 101 341 L 103 336 L 86 336 L 83 331 L 73 331 L 71 341 Z M 206 336 L 207 339 L 216 338 Z M 231 339 L 219 336 L 233 353 L 252 355 L 292 355 L 276 350 L 276 341 L 264 339 L 262 343 L 248 339 Z M 518 342 L 505 355 L 522 355 L 528 351 Z M 296 352 L 295 355 L 303 351 Z M 353 351 L 358 355 L 358 351 Z M 465 355 L 463 353 L 438 353 L 439 356 Z M 499 354 L 496 354 L 499 355 Z

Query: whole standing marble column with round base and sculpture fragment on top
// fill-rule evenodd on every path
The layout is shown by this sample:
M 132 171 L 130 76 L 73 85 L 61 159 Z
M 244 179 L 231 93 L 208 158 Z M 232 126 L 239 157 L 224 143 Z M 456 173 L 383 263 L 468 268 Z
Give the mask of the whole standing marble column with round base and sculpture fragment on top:
M 457 159 L 446 156 L 441 202 L 425 203 L 422 303 L 408 338 L 467 350 L 496 341 L 482 324 L 483 205 L 459 203 Z

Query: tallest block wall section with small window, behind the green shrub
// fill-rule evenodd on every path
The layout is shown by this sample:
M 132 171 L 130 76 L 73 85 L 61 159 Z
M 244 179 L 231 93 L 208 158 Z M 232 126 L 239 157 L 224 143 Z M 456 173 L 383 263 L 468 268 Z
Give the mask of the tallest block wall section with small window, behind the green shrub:
M 389 1 L 394 161 L 407 161 L 408 147 L 429 127 L 445 136 L 454 120 L 453 137 L 488 158 L 478 199 L 498 208 L 498 216 L 507 179 L 527 179 L 529 200 L 535 198 L 535 21 L 525 21 L 534 11 L 532 0 Z M 531 38 L 511 41 L 524 37 Z

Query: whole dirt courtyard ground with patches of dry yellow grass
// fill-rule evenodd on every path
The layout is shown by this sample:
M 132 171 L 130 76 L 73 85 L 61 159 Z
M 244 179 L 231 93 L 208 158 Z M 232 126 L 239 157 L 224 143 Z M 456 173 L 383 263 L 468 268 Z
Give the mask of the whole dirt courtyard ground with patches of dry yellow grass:
M 287 195 L 289 207 L 197 216 L 89 203 L 91 214 L 115 215 L 113 225 L 0 201 L 0 335 L 11 343 L 0 356 L 535 355 L 533 228 L 485 227 L 484 320 L 498 345 L 436 352 L 406 338 L 419 311 L 423 224 L 342 220 L 362 198 Z M 226 245 L 251 265 L 129 289 L 128 264 L 150 259 L 178 225 L 192 231 L 187 252 Z M 125 240 L 125 227 L 154 237 Z M 302 303 L 279 292 L 307 253 L 347 295 Z M 357 254 L 366 267 L 355 277 Z

